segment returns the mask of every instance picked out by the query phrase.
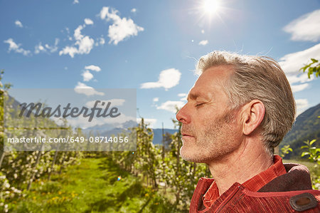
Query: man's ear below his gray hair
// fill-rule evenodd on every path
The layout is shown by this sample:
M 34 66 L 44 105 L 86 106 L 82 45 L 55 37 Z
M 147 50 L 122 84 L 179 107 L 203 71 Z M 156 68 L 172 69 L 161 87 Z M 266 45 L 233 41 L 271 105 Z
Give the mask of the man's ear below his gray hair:
M 250 135 L 265 118 L 265 105 L 261 100 L 251 100 L 242 107 L 242 133 Z

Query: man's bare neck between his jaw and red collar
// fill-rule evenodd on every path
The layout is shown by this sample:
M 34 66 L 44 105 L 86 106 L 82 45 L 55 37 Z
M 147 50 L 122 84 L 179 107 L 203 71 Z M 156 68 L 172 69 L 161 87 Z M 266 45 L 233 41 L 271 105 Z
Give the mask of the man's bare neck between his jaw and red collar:
M 245 147 L 240 147 L 222 159 L 208 163 L 220 195 L 235 182 L 242 184 L 273 165 L 272 157 L 265 152 L 264 147 L 256 147 L 256 144 L 248 142 Z

